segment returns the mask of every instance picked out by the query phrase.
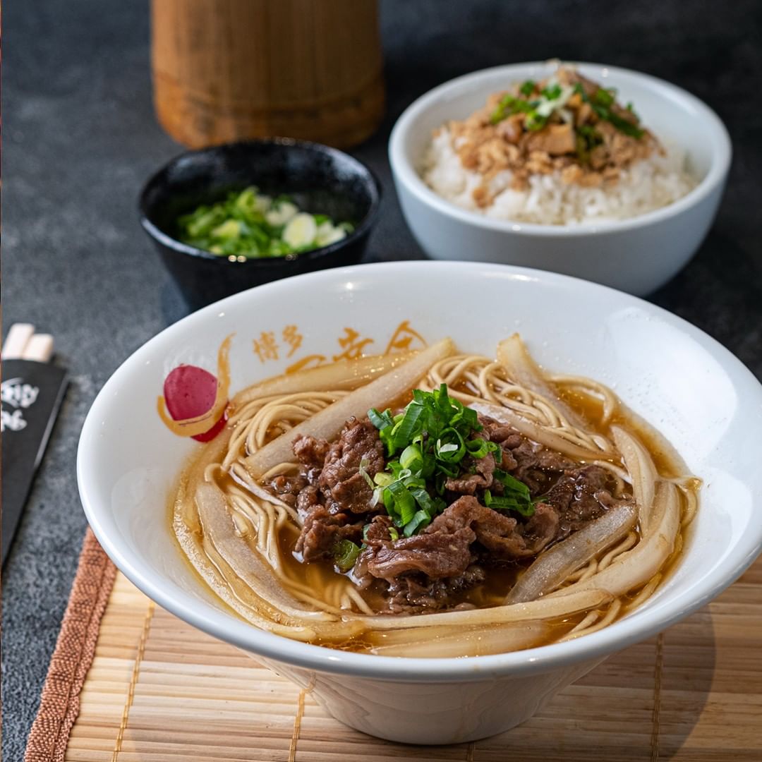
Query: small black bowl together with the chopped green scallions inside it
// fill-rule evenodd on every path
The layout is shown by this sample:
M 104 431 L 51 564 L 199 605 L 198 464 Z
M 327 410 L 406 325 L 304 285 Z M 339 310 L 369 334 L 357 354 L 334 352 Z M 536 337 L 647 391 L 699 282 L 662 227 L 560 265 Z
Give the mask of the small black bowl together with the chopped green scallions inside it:
M 380 192 L 370 169 L 337 149 L 251 140 L 172 159 L 143 188 L 140 222 L 197 309 L 271 280 L 357 264 Z

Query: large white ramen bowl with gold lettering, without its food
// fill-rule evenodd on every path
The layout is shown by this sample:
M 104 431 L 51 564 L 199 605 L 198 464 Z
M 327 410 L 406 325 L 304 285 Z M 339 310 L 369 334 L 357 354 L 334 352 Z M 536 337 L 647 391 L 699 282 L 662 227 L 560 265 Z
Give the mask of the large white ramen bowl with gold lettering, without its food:
M 492 356 L 497 342 L 514 331 L 547 368 L 615 389 L 703 479 L 683 557 L 631 616 L 571 642 L 501 655 L 347 653 L 239 620 L 181 557 L 168 498 L 199 445 L 172 434 L 157 415 L 157 396 L 174 367 L 188 363 L 216 373 L 219 346 L 234 334 L 232 394 L 303 357 L 330 359 L 366 339 L 372 341 L 364 344 L 365 353 L 377 354 L 395 343 L 395 335 L 397 344 L 411 338 L 411 347 L 417 337 L 431 343 L 449 335 L 463 349 Z M 523 722 L 607 655 L 677 622 L 741 575 L 762 548 L 760 452 L 762 387 L 732 354 L 684 320 L 557 274 L 399 262 L 280 280 L 171 325 L 128 358 L 95 399 L 82 429 L 77 472 L 101 545 L 160 606 L 309 687 L 347 725 L 395 741 L 450 744 Z

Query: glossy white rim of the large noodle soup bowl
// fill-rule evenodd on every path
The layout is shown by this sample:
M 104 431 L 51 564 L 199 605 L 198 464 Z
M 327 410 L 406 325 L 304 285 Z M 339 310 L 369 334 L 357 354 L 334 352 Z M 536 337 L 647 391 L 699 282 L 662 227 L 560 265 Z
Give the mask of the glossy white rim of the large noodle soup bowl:
M 762 386 L 740 360 L 731 354 L 722 344 L 700 331 L 685 320 L 645 302 L 636 296 L 590 283 L 586 280 L 555 274 L 546 271 L 536 271 L 525 267 L 514 267 L 503 264 L 480 264 L 472 262 L 441 262 L 441 261 L 409 261 L 385 262 L 378 264 L 355 265 L 354 267 L 337 267 L 328 271 L 318 271 L 298 275 L 292 278 L 277 280 L 242 293 L 228 296 L 217 303 L 200 309 L 188 315 L 174 325 L 165 328 L 160 334 L 143 344 L 114 372 L 99 392 L 88 412 L 82 427 L 77 453 L 77 479 L 79 494 L 88 522 L 104 550 L 118 568 L 133 584 L 155 600 L 160 606 L 190 623 L 203 632 L 220 640 L 231 643 L 255 655 L 294 664 L 299 667 L 325 671 L 335 674 L 346 674 L 355 677 L 370 677 L 377 680 L 392 680 L 410 683 L 441 683 L 461 682 L 491 679 L 504 674 L 519 675 L 552 671 L 568 664 L 604 658 L 610 653 L 620 651 L 636 642 L 641 642 L 654 636 L 668 626 L 684 619 L 693 611 L 699 609 L 709 600 L 721 593 L 732 584 L 762 551 L 762 522 L 757 531 L 748 531 L 738 540 L 735 552 L 720 562 L 713 575 L 694 582 L 690 588 L 670 597 L 664 594 L 650 607 L 636 611 L 624 620 L 620 620 L 599 632 L 594 632 L 582 638 L 568 642 L 544 645 L 524 651 L 510 652 L 490 656 L 475 656 L 471 658 L 409 658 L 376 656 L 370 654 L 337 651 L 319 645 L 298 642 L 264 632 L 255 626 L 235 619 L 234 616 L 223 613 L 185 591 L 168 594 L 163 588 L 162 578 L 152 568 L 129 549 L 129 543 L 120 539 L 118 533 L 110 536 L 105 523 L 109 523 L 108 509 L 98 505 L 97 488 L 91 484 L 88 476 L 89 463 L 94 458 L 95 442 L 98 437 L 100 421 L 104 420 L 112 401 L 117 399 L 120 389 L 121 376 L 127 375 L 131 367 L 140 367 L 150 359 L 155 344 L 162 344 L 173 338 L 180 338 L 192 331 L 195 326 L 203 325 L 219 312 L 232 308 L 235 303 L 255 302 L 263 293 L 281 293 L 283 295 L 297 284 L 309 280 L 312 287 L 337 282 L 347 278 L 357 278 L 370 273 L 391 273 L 399 278 L 414 278 L 424 275 L 433 269 L 450 274 L 453 280 L 466 276 L 503 278 L 507 280 L 534 281 L 549 283 L 558 287 L 571 288 L 580 294 L 584 301 L 594 303 L 601 293 L 615 293 L 623 306 L 633 306 L 658 315 L 658 318 L 675 328 L 679 328 L 695 341 L 704 351 L 709 353 L 728 373 L 736 389 L 742 389 L 741 399 L 758 405 L 762 409 Z M 127 370 L 126 370 L 127 369 Z M 100 443 L 102 446 L 102 442 Z M 757 502 L 759 498 L 757 498 Z M 101 520 L 101 512 L 106 520 Z M 757 513 L 759 509 L 757 508 Z M 179 551 L 178 551 L 179 552 Z

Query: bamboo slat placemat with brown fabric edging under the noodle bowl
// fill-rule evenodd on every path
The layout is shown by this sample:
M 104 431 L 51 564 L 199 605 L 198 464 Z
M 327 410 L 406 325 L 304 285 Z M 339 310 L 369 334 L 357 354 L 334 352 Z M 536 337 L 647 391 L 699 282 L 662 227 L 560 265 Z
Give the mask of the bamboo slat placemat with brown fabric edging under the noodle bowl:
M 88 532 L 27 762 L 408 759 L 759 762 L 762 558 L 708 607 L 613 655 L 511 732 L 415 747 L 344 727 L 309 694 L 155 606 Z

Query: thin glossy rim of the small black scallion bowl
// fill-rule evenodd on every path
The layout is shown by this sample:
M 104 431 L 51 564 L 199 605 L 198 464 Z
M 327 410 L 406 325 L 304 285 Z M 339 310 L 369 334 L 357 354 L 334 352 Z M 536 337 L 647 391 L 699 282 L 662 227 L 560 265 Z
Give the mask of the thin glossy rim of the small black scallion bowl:
M 245 259 L 245 261 L 242 262 L 237 260 L 233 262 L 230 261 L 227 257 L 221 257 L 219 255 L 213 254 L 211 251 L 207 251 L 206 249 L 198 248 L 197 246 L 191 246 L 190 244 L 178 241 L 178 239 L 173 238 L 171 235 L 169 235 L 169 233 L 163 231 L 160 227 L 158 227 L 158 225 L 156 225 L 156 223 L 152 221 L 152 219 L 150 219 L 147 202 L 148 194 L 154 184 L 158 182 L 159 178 L 161 178 L 162 174 L 165 174 L 165 172 L 168 171 L 173 165 L 178 164 L 178 162 L 181 162 L 185 158 L 202 154 L 215 154 L 221 149 L 245 148 L 247 146 L 280 146 L 285 149 L 301 148 L 307 149 L 309 151 L 317 151 L 323 154 L 327 153 L 329 155 L 337 155 L 340 156 L 342 160 L 346 159 L 349 162 L 353 162 L 355 165 L 357 165 L 358 169 L 361 169 L 363 172 L 367 173 L 367 178 L 363 178 L 363 182 L 367 185 L 367 187 L 370 188 L 371 191 L 370 207 L 368 208 L 367 213 L 365 213 L 363 219 L 357 223 L 357 226 L 354 228 L 354 230 L 352 230 L 352 232 L 335 243 L 328 244 L 327 246 L 321 246 L 320 248 L 313 248 L 309 251 L 303 251 L 300 254 L 296 255 L 288 255 L 286 257 L 251 258 Z M 251 182 L 255 183 L 255 179 L 252 178 Z M 382 186 L 379 178 L 377 178 L 376 173 L 367 164 L 361 162 L 359 158 L 355 158 L 353 155 L 345 153 L 344 151 L 340 151 L 339 149 L 333 148 L 332 146 L 326 146 L 324 143 L 313 142 L 310 140 L 299 140 L 296 138 L 275 137 L 251 140 L 235 140 L 233 142 L 218 143 L 215 146 L 207 146 L 207 148 L 184 151 L 178 155 L 175 155 L 168 162 L 158 168 L 146 181 L 146 184 L 143 185 L 138 197 L 138 211 L 140 216 L 140 224 L 142 228 L 148 233 L 148 235 L 158 243 L 166 246 L 167 248 L 171 248 L 172 251 L 177 251 L 179 254 L 187 254 L 192 257 L 197 257 L 210 262 L 219 262 L 220 267 L 277 267 L 277 265 L 282 267 L 284 264 L 296 263 L 308 259 L 318 259 L 324 255 L 333 254 L 335 251 L 344 248 L 344 246 L 350 245 L 351 243 L 360 240 L 363 235 L 367 235 L 367 233 L 370 232 L 370 228 L 372 228 L 373 224 L 376 222 L 376 217 L 378 216 L 379 208 L 381 206 L 381 196 Z

